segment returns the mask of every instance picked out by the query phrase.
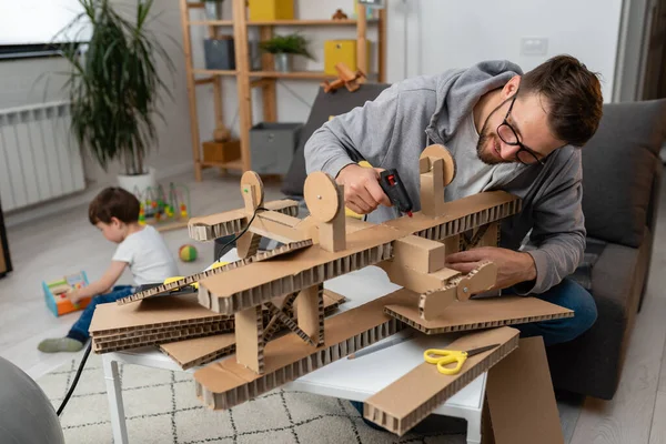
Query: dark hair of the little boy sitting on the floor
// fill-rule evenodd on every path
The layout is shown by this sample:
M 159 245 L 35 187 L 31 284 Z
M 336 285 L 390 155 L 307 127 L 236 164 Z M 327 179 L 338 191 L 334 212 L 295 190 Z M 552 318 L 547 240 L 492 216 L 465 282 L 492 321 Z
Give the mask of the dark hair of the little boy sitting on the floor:
M 117 218 L 124 223 L 139 221 L 139 199 L 129 191 L 109 186 L 102 190 L 88 206 L 88 219 L 97 225 L 98 222 L 111 223 Z

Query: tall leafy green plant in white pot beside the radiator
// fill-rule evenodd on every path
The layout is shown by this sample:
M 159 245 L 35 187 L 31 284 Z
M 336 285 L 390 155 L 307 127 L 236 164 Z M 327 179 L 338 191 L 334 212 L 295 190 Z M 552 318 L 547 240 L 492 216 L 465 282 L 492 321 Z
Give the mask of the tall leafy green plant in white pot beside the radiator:
M 91 33 L 84 46 L 69 43 L 62 50 L 71 68 L 64 85 L 70 131 L 104 171 L 111 161 L 121 162 L 119 184 L 130 192 L 155 185 L 154 170 L 144 160 L 157 145 L 153 119 L 162 117 L 160 92 L 172 98 L 157 63 L 162 59 L 173 72 L 173 62 L 148 29 L 153 1 L 139 1 L 130 21 L 127 10 L 121 14 L 112 0 L 79 0 L 84 12 L 61 31 L 85 24 Z

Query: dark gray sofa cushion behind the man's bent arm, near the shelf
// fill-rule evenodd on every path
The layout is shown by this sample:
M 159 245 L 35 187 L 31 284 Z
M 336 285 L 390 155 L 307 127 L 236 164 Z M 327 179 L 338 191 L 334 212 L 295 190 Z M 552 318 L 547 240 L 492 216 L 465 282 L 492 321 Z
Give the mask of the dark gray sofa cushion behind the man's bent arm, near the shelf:
M 354 92 L 350 92 L 346 88 L 341 88 L 334 92 L 324 92 L 320 88 L 307 122 L 301 132 L 299 148 L 294 153 L 289 172 L 284 176 L 281 191 L 290 198 L 303 196 L 303 184 L 305 183 L 305 158 L 303 151 L 305 142 L 310 139 L 321 125 L 329 121 L 331 115 L 344 114 L 356 107 L 362 107 L 366 101 L 374 100 L 380 92 L 389 88 L 386 83 L 364 83 Z

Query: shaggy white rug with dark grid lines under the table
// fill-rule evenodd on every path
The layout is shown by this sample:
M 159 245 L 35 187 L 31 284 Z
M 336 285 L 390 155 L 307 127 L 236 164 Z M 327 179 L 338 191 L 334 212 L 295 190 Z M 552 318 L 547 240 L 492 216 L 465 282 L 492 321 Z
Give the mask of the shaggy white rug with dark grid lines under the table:
M 58 408 L 79 362 L 37 382 Z M 121 367 L 131 443 L 465 443 L 462 420 L 431 417 L 402 438 L 366 425 L 347 401 L 273 391 L 229 411 L 210 411 L 194 394 L 192 375 L 138 365 Z M 109 404 L 99 355 L 91 353 L 61 416 L 68 444 L 112 443 Z

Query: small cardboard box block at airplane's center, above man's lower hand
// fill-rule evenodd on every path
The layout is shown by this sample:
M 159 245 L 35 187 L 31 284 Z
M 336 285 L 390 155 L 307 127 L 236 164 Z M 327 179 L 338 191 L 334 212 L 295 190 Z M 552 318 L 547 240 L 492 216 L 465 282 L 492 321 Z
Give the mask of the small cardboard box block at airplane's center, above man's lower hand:
M 433 273 L 444 268 L 444 244 L 417 235 L 397 239 L 393 243 L 394 262 L 422 273 Z

